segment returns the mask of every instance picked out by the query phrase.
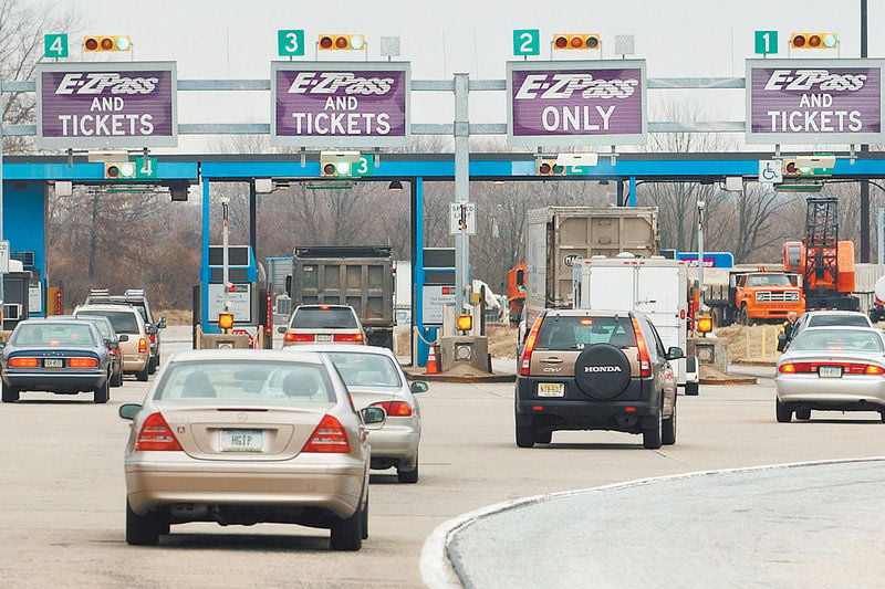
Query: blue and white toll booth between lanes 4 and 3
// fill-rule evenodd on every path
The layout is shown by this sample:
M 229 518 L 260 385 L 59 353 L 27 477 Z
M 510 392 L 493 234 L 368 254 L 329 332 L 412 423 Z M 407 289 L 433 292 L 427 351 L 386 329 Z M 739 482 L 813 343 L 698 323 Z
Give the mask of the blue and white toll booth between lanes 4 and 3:
M 194 316 L 200 317 L 202 334 L 219 334 L 218 317 L 233 314 L 233 333 L 248 334 L 258 341 L 269 340 L 272 317 L 268 313 L 268 280 L 264 267 L 256 261 L 249 245 L 228 246 L 228 284 L 225 284 L 225 252 L 221 245 L 209 246 L 209 282 L 195 291 Z M 202 274 L 206 275 L 206 274 Z M 261 333 L 259 333 L 261 330 Z M 270 347 L 270 346 L 268 346 Z

